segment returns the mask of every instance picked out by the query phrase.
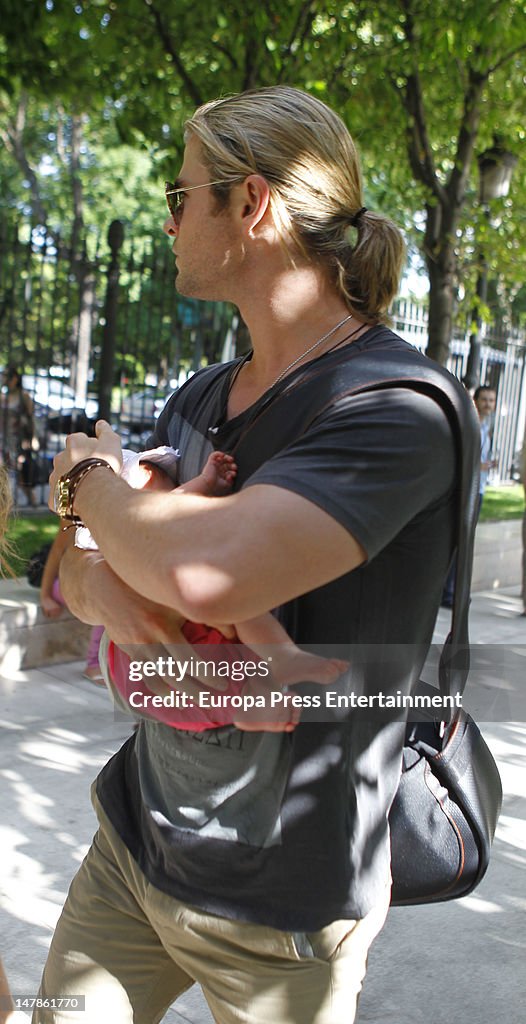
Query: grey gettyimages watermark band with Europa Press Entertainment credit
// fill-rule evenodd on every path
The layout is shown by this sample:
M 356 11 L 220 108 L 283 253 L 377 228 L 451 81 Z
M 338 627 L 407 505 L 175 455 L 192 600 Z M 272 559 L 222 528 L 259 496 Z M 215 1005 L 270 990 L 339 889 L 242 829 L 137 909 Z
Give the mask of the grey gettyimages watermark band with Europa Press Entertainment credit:
M 456 660 L 446 665 L 453 683 L 447 692 L 438 683 L 440 647 L 427 652 L 410 644 L 318 644 L 308 649 L 318 658 L 339 658 L 344 671 L 324 684 L 276 683 L 278 652 L 270 652 L 270 646 L 261 656 L 235 643 L 128 645 L 118 703 L 128 714 L 168 724 L 173 713 L 179 727 L 186 721 L 188 729 L 192 712 L 205 718 L 220 715 L 223 721 L 228 715 L 235 719 L 236 712 L 250 713 L 264 721 L 265 713 L 287 709 L 299 712 L 302 722 L 341 721 L 348 713 L 450 719 L 458 709 L 480 721 L 526 721 L 526 646 L 474 646 L 469 673 L 467 649 L 457 651 Z

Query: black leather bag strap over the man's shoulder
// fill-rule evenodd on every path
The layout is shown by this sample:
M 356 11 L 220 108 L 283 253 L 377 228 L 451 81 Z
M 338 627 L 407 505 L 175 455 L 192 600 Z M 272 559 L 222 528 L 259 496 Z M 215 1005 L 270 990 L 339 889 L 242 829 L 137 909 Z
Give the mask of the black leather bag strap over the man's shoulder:
M 392 336 L 391 336 L 392 337 Z M 235 444 L 238 480 L 243 483 L 263 462 L 300 437 L 328 408 L 344 398 L 385 388 L 410 388 L 436 401 L 445 413 L 456 455 L 456 578 L 451 630 L 442 648 L 439 685 L 444 695 L 463 693 L 470 656 L 468 613 L 480 465 L 480 428 L 475 407 L 463 385 L 415 349 L 342 350 L 342 358 L 316 360 L 303 374 L 286 379 L 284 387 L 249 421 Z

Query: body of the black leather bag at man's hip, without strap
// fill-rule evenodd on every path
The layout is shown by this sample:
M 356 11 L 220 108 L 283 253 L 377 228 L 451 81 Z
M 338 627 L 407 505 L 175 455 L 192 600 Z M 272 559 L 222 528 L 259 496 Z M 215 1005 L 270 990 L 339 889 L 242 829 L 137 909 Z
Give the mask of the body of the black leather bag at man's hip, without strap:
M 421 683 L 424 690 L 437 692 Z M 489 863 L 501 800 L 497 767 L 471 715 L 409 724 L 389 815 L 392 904 L 472 892 Z

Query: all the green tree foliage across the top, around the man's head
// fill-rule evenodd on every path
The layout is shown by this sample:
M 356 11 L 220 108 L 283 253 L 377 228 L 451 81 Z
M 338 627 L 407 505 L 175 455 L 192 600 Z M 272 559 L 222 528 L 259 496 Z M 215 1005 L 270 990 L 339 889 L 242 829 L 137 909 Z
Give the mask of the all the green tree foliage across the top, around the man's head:
M 495 294 L 520 307 L 523 167 L 488 222 L 476 156 L 495 132 L 518 155 L 524 142 L 524 0 L 0 0 L 0 175 L 16 162 L 13 205 L 25 182 L 37 215 L 38 185 L 42 210 L 59 217 L 69 204 L 100 222 L 111 197 L 112 211 L 122 203 L 134 229 L 145 226 L 148 209 L 159 216 L 154 189 L 174 174 L 193 108 L 287 82 L 342 114 L 363 156 L 367 204 L 391 213 L 421 253 L 430 354 L 445 360 L 463 295 L 471 315 L 481 246 Z M 15 144 L 23 110 L 26 168 Z

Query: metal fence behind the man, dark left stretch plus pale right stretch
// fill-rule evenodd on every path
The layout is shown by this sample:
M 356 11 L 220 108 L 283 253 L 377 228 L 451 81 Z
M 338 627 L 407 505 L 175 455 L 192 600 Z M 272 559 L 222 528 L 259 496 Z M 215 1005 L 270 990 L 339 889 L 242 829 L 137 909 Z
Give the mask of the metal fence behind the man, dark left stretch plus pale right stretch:
M 166 397 L 199 367 L 245 350 L 233 307 L 179 296 L 164 237 L 134 244 L 114 221 L 106 238 L 72 244 L 42 227 L 0 222 L 0 369 L 15 367 L 35 406 L 40 454 L 50 458 L 71 430 L 100 415 L 140 447 Z M 399 300 L 395 330 L 427 344 L 424 305 Z M 497 391 L 497 474 L 508 479 L 526 416 L 524 338 L 487 339 L 481 380 Z M 469 343 L 455 337 L 449 369 L 462 379 Z M 0 397 L 0 440 L 8 434 L 8 395 Z M 5 457 L 5 456 L 4 456 Z M 19 486 L 18 504 L 42 504 L 45 486 Z

